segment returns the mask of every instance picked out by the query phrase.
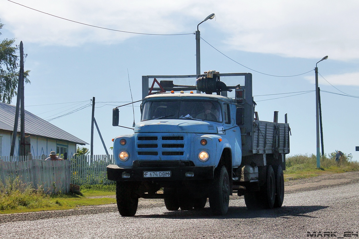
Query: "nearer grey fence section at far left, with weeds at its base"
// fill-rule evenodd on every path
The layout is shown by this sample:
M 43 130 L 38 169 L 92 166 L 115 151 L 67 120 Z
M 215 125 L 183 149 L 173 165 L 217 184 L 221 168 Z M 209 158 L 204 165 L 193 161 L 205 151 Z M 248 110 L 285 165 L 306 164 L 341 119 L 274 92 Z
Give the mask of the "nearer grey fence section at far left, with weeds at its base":
M 45 193 L 69 193 L 70 161 L 44 161 L 39 159 L 5 162 L 0 160 L 0 179 L 4 186 L 16 188 L 30 186 Z

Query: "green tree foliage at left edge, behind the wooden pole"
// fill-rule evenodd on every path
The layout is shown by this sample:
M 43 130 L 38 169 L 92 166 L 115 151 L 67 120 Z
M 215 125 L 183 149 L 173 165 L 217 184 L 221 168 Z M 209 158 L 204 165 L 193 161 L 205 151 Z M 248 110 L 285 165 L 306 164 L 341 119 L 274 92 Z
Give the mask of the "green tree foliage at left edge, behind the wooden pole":
M 4 24 L 0 23 L 0 29 Z M 1 32 L 0 32 L 1 35 Z M 16 55 L 17 47 L 14 46 L 14 39 L 5 38 L 0 42 L 0 101 L 10 104 L 11 100 L 17 95 L 19 81 L 18 58 Z M 24 80 L 28 79 L 29 71 L 24 72 Z

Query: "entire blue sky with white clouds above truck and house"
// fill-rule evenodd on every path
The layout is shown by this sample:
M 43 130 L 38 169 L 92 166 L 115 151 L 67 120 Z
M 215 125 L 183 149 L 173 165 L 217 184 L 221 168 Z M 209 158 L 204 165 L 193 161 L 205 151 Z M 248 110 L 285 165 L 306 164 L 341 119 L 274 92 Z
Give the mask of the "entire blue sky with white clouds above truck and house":
M 199 25 L 201 72 L 252 73 L 260 120 L 272 121 L 273 111 L 279 111 L 283 123 L 288 113 L 290 155 L 315 154 L 313 70 L 328 56 L 317 64 L 324 152 L 341 150 L 359 160 L 359 1 L 14 2 L 44 12 L 0 0 L 0 39 L 23 41 L 25 70 L 31 70 L 25 109 L 88 143 L 90 99 L 95 97 L 95 119 L 109 150 L 112 138 L 133 132 L 112 126 L 112 108 L 131 102 L 129 80 L 136 101 L 141 99 L 141 76 L 195 75 L 193 33 L 215 13 Z M 185 35 L 124 33 L 74 21 L 126 32 Z M 299 76 L 278 77 L 293 75 Z M 139 104 L 134 108 L 139 122 Z M 121 107 L 120 125 L 131 127 L 133 120 L 132 107 Z M 94 154 L 104 153 L 95 130 Z

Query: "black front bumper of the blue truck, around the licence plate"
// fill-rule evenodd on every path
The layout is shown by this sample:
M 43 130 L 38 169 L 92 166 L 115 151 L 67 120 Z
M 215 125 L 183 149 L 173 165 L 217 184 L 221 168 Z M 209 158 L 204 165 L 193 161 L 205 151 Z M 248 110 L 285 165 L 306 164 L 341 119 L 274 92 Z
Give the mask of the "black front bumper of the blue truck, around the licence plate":
M 215 166 L 203 167 L 156 167 L 156 168 L 120 168 L 115 164 L 107 166 L 107 178 L 113 181 L 182 181 L 211 180 Z M 171 171 L 171 177 L 145 178 L 144 171 Z M 186 172 L 193 172 L 193 177 L 186 177 Z M 130 178 L 122 178 L 122 173 L 129 173 Z

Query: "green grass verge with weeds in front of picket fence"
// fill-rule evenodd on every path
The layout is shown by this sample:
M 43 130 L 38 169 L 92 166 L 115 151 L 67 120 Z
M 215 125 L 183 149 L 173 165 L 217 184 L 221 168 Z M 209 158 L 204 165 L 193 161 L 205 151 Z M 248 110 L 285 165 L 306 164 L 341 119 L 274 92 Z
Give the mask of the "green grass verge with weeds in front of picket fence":
M 78 206 L 92 206 L 116 203 L 116 199 L 94 196 L 115 195 L 111 186 L 95 186 L 84 188 L 83 196 L 75 194 L 46 195 L 43 190 L 33 190 L 29 185 L 8 183 L 0 185 L 0 214 L 34 212 L 48 210 L 74 209 Z M 113 186 L 112 186 L 113 187 Z M 101 191 L 107 190 L 107 191 Z

